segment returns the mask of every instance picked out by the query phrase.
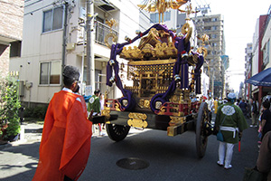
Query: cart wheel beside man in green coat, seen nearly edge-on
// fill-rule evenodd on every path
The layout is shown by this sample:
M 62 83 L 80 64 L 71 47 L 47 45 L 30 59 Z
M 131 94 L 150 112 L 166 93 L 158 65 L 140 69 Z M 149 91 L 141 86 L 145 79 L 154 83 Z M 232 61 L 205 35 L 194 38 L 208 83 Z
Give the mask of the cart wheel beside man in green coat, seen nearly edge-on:
M 198 112 L 198 119 L 196 125 L 196 147 L 198 157 L 204 157 L 207 148 L 208 136 L 205 134 L 204 130 L 206 125 L 208 125 L 209 110 L 206 102 L 201 103 L 200 110 Z

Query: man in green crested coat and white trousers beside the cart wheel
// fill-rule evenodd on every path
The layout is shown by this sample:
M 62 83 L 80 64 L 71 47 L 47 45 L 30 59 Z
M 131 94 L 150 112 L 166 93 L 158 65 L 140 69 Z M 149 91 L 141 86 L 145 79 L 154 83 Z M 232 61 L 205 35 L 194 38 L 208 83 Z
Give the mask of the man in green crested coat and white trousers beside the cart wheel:
M 223 141 L 220 141 L 219 161 L 217 164 L 225 169 L 229 169 L 234 144 L 238 143 L 239 137 L 244 129 L 248 129 L 248 123 L 242 110 L 234 105 L 236 100 L 235 93 L 228 94 L 228 102 L 221 105 L 215 120 L 215 130 L 221 131 Z

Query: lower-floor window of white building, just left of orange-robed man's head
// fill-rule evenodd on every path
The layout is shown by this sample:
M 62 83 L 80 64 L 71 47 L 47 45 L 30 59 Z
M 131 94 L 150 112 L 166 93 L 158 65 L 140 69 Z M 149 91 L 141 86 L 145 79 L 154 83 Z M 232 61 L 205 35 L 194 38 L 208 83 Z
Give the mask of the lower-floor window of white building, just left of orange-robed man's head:
M 61 83 L 61 62 L 42 62 L 40 72 L 40 84 Z

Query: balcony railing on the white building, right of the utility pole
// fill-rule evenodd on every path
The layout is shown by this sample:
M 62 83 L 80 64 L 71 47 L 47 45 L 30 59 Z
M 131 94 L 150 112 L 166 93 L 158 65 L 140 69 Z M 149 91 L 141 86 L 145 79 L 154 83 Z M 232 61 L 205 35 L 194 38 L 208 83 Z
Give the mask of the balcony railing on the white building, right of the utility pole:
M 110 32 L 110 27 L 107 26 L 106 24 L 102 24 L 97 22 L 96 24 L 96 36 L 95 36 L 95 43 L 99 43 L 102 45 L 106 46 L 105 43 L 105 37 L 107 36 L 108 33 Z M 112 29 L 112 33 L 116 34 L 118 36 L 118 33 L 116 30 Z

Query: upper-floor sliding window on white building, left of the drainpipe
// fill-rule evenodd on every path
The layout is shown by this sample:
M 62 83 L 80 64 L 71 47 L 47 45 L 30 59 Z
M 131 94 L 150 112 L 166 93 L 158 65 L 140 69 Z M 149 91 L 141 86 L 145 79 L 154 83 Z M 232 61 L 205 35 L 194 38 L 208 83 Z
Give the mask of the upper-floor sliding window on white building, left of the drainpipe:
M 42 33 L 59 30 L 63 24 L 63 6 L 43 12 Z

